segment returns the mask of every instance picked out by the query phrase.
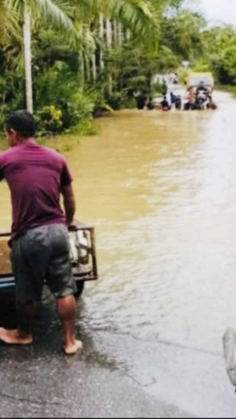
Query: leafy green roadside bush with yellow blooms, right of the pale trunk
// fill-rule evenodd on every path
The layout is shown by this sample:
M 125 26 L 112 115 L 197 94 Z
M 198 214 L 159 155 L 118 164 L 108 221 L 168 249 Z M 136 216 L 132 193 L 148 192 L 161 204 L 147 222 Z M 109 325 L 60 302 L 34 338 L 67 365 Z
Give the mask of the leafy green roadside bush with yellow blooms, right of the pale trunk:
M 80 89 L 78 77 L 71 73 L 68 65 L 57 61 L 53 68 L 36 78 L 35 109 L 40 132 L 68 132 L 90 120 L 95 107 L 93 99 L 92 93 Z

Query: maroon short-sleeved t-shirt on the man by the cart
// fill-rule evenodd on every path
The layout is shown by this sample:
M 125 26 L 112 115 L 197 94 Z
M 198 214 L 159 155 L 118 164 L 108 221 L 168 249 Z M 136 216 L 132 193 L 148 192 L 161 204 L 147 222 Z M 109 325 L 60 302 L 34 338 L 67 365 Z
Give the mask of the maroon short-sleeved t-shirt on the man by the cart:
M 60 188 L 72 177 L 56 151 L 27 141 L 0 153 L 0 180 L 6 179 L 12 200 L 12 238 L 51 223 L 66 223 Z

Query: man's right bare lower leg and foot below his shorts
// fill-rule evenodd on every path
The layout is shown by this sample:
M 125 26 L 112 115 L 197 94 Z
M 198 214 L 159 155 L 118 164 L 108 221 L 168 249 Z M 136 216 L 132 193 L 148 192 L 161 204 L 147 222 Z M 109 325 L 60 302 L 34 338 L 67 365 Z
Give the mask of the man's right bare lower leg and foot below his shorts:
M 74 355 L 83 348 L 80 340 L 75 338 L 76 302 L 73 295 L 57 299 L 58 314 L 64 333 L 64 351 L 66 355 Z

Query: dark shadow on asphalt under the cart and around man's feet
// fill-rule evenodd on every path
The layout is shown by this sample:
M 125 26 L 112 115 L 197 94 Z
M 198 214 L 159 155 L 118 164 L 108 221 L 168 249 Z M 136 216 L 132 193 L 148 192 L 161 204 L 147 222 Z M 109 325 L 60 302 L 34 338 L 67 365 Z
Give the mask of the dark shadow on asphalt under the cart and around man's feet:
M 105 353 L 100 353 L 95 349 L 92 331 L 86 328 L 81 321 L 81 316 L 85 311 L 85 303 L 82 298 L 77 300 L 77 318 L 76 318 L 76 335 L 83 341 L 84 350 L 80 354 L 80 359 L 91 365 L 102 366 L 109 370 L 118 369 L 116 361 L 108 358 Z M 0 295 L 0 327 L 9 329 L 17 328 L 17 313 L 14 291 L 5 291 Z M 1 358 L 9 359 L 14 353 L 15 361 L 21 360 L 22 356 L 25 360 L 37 357 L 61 356 L 64 358 L 62 351 L 63 337 L 61 324 L 56 312 L 56 304 L 54 297 L 50 294 L 47 287 L 44 289 L 42 302 L 38 306 L 37 314 L 33 322 L 33 345 L 29 347 L 16 347 L 0 345 Z M 73 360 L 73 357 L 72 359 Z M 72 361 L 73 362 L 73 361 Z

